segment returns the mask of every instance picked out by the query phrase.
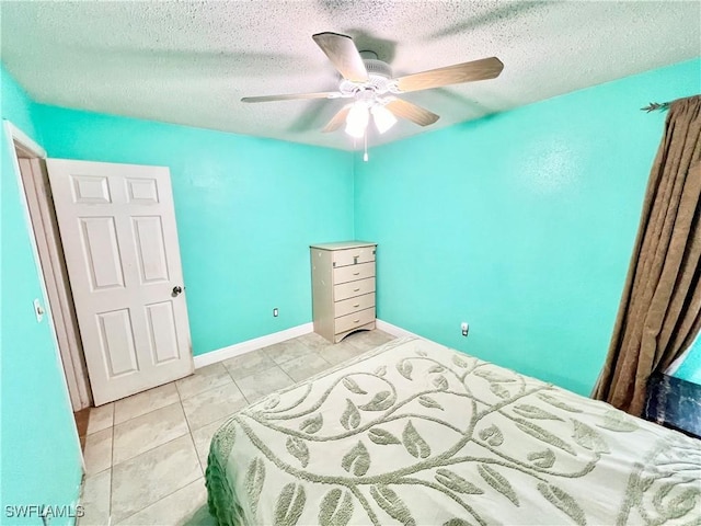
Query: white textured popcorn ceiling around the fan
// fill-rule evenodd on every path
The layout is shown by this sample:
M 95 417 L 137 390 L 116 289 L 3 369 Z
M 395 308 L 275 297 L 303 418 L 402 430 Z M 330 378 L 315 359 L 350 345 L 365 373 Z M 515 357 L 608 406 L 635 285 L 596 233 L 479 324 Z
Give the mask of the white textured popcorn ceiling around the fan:
M 320 130 L 343 100 L 244 104 L 337 88 L 311 39 L 333 31 L 395 76 L 497 56 L 495 80 L 403 95 L 439 114 L 407 137 L 701 54 L 701 3 L 504 1 L 7 2 L 2 61 L 38 102 L 297 142 L 353 148 Z M 636 105 L 648 101 L 631 101 Z

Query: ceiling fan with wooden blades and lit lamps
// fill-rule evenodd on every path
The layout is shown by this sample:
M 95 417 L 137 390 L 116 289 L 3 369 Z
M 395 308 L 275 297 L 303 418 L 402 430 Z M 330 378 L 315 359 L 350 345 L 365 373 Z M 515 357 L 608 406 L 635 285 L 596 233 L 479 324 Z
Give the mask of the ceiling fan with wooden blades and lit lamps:
M 438 121 L 439 116 L 435 113 L 399 99 L 397 95 L 461 82 L 494 79 L 504 69 L 498 58 L 490 57 L 392 78 L 392 70 L 387 62 L 378 60 L 377 55 L 371 52 L 358 52 L 349 36 L 325 32 L 312 35 L 312 38 L 341 73 L 342 79 L 337 91 L 244 96 L 241 101 L 350 99 L 352 102 L 333 116 L 323 132 L 335 132 L 345 124 L 345 132 L 348 135 L 363 138 L 366 136 L 370 115 L 380 134 L 390 129 L 397 123 L 397 117 L 405 118 L 420 126 L 428 126 Z

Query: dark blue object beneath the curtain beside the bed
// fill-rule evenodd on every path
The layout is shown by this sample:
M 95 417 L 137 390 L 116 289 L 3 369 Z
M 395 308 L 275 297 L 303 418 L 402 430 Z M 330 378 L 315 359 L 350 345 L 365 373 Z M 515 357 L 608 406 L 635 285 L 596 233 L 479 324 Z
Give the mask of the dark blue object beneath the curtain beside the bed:
M 674 376 L 653 375 L 643 416 L 701 438 L 701 386 Z

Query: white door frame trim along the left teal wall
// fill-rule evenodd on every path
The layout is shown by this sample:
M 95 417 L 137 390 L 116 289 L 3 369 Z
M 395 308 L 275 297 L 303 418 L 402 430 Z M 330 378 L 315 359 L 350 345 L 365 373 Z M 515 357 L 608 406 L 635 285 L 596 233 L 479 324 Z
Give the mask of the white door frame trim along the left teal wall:
M 64 361 L 61 359 L 60 350 L 58 346 L 58 339 L 56 338 L 56 327 L 54 324 L 54 317 L 51 316 L 51 311 L 48 305 L 48 294 L 46 291 L 46 283 L 44 281 L 44 273 L 42 272 L 42 262 L 39 260 L 36 238 L 34 237 L 34 228 L 32 226 L 32 217 L 30 215 L 30 208 L 27 205 L 26 194 L 24 192 L 24 183 L 22 181 L 22 173 L 20 171 L 20 163 L 18 161 L 15 145 L 22 148 L 26 153 L 34 156 L 38 159 L 46 159 L 46 151 L 39 145 L 37 145 L 34 140 L 32 140 L 25 133 L 23 133 L 20 128 L 13 125 L 10 121 L 3 119 L 4 130 L 8 139 L 7 148 L 9 148 L 9 152 L 12 157 L 12 164 L 14 169 L 14 174 L 16 178 L 18 191 L 20 193 L 20 199 L 22 201 L 22 207 L 24 209 L 24 220 L 26 226 L 26 231 L 30 237 L 30 244 L 32 247 L 32 255 L 34 256 L 34 262 L 37 268 L 37 278 L 39 282 L 39 287 L 42 290 L 42 298 L 39 301 L 44 306 L 44 310 L 46 311 L 46 320 L 49 325 L 49 332 L 51 334 L 51 340 L 54 342 L 54 352 L 56 357 L 56 364 L 58 366 L 58 370 L 62 373 L 61 382 L 64 385 L 64 392 L 66 397 L 66 402 L 69 408 L 72 408 L 71 397 L 68 389 L 68 381 L 66 380 L 66 369 L 64 368 Z M 72 416 L 72 415 L 71 415 Z M 73 423 L 73 434 L 76 441 L 76 447 L 78 448 L 80 460 L 82 465 L 83 472 L 85 471 L 85 461 L 82 455 L 82 448 L 80 446 L 80 437 L 78 436 L 78 427 Z

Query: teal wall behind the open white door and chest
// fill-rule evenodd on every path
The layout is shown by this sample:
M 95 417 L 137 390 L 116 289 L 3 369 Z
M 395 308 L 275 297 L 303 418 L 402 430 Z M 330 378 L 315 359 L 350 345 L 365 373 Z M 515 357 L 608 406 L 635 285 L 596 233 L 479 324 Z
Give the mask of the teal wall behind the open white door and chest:
M 309 244 L 353 238 L 347 152 L 55 106 L 35 113 L 49 157 L 170 168 L 195 355 L 311 321 Z

